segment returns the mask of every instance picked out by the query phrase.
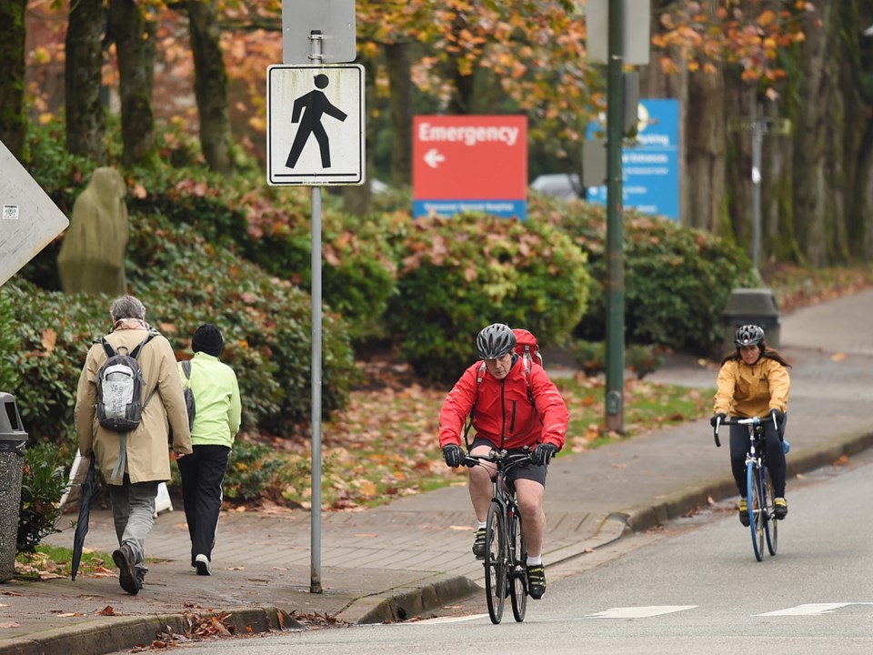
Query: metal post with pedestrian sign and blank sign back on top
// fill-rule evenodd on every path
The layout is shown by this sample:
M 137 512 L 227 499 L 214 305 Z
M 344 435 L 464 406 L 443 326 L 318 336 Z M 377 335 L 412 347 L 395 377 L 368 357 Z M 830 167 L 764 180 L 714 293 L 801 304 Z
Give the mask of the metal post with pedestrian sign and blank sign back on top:
M 267 184 L 312 186 L 310 593 L 321 588 L 321 186 L 364 184 L 364 66 L 355 0 L 283 0 L 282 60 L 267 69 Z M 305 45 L 305 40 L 308 43 Z

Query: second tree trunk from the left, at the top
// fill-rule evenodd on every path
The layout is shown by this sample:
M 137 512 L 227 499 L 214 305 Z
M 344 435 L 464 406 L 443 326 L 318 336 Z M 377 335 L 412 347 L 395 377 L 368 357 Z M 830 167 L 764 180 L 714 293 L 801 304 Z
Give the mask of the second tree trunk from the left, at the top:
M 105 28 L 102 0 L 74 0 L 66 31 L 66 150 L 106 161 L 106 116 L 100 100 Z

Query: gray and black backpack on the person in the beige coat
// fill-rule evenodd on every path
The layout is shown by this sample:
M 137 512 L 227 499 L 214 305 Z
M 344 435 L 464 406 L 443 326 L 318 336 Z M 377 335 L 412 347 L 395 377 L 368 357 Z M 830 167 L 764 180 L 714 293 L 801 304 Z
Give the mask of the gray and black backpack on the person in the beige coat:
M 143 410 L 148 401 L 155 395 L 157 387 L 143 402 L 143 388 L 146 380 L 139 368 L 137 358 L 146 344 L 157 336 L 150 332 L 148 336 L 129 353 L 127 348 L 120 347 L 120 352 L 100 338 L 100 343 L 106 353 L 106 361 L 97 371 L 97 419 L 100 425 L 114 432 L 131 432 L 135 430 L 143 418 Z

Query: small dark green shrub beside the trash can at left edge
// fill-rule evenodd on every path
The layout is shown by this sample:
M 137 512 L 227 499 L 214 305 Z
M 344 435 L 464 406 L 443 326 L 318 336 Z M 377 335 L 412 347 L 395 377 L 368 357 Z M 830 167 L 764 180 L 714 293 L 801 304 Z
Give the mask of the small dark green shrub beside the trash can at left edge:
M 65 468 L 59 463 L 61 448 L 39 443 L 25 451 L 25 468 L 18 510 L 18 535 L 15 549 L 33 553 L 36 546 L 56 528 L 61 511 L 58 505 L 66 489 Z

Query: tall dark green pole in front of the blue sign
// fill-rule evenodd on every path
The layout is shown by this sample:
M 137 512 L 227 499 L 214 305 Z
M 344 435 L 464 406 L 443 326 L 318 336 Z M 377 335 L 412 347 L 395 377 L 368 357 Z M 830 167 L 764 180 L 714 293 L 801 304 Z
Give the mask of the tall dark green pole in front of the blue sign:
M 609 1 L 607 63 L 607 430 L 624 431 L 625 257 L 621 142 L 624 0 Z

